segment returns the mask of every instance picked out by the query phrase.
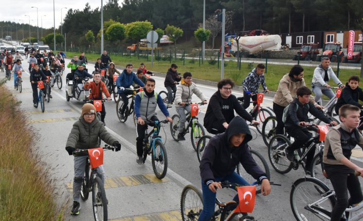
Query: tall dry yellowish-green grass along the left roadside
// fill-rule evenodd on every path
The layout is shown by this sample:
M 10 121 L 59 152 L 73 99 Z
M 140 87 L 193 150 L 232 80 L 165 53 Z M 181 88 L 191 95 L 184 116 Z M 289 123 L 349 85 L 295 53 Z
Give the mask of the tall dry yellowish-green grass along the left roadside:
M 5 86 L 0 86 L 0 220 L 64 220 L 52 170 L 35 150 L 37 132 Z

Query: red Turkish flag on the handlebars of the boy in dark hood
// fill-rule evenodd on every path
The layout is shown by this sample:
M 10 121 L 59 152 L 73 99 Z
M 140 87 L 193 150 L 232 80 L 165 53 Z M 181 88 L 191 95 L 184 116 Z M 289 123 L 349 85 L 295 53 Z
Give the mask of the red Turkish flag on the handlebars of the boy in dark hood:
M 251 213 L 255 208 L 256 186 L 244 186 L 237 189 L 240 203 L 235 212 Z

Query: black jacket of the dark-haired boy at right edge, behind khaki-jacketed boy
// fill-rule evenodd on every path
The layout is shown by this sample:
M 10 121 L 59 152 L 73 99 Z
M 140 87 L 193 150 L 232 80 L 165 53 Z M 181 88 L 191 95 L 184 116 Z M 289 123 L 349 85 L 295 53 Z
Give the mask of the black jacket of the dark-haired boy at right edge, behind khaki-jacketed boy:
M 358 100 L 363 101 L 363 91 L 361 88 L 352 89 L 348 83 L 346 87 L 341 91 L 340 97 L 338 98 L 337 104 L 335 105 L 335 111 L 338 113 L 339 108 L 346 104 L 351 104 L 361 108 Z

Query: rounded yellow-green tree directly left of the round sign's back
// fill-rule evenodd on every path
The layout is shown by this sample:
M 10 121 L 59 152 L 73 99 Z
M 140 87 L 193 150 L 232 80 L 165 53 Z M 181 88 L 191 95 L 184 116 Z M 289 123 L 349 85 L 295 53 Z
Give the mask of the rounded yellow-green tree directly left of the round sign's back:
M 136 42 L 139 42 L 141 38 L 145 38 L 149 31 L 153 30 L 151 22 L 132 22 L 126 25 L 126 35 Z

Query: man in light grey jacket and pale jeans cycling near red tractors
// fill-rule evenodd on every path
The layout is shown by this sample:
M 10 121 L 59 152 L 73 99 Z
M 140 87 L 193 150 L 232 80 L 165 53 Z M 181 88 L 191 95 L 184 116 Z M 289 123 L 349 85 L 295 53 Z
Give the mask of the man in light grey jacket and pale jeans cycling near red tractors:
M 334 92 L 330 88 L 330 85 L 328 84 L 330 79 L 333 79 L 333 81 L 338 85 L 338 87 L 345 87 L 343 85 L 338 77 L 335 75 L 333 69 L 329 66 L 330 65 L 330 59 L 329 57 L 322 57 L 321 58 L 321 64 L 315 68 L 314 75 L 313 75 L 313 81 L 312 81 L 312 91 L 315 94 L 315 101 L 319 104 L 321 103 L 321 96 L 322 94 L 329 97 L 329 99 L 332 99 L 334 97 Z

